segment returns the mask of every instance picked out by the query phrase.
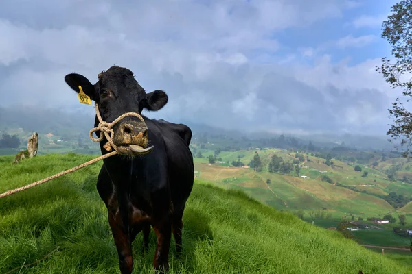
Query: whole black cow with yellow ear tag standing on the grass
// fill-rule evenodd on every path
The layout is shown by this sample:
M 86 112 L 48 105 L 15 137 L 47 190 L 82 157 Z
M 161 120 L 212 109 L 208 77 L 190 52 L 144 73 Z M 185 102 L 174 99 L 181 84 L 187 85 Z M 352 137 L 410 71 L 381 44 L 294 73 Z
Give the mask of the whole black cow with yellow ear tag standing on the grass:
M 108 123 L 125 112 L 141 114 L 144 108 L 157 111 L 168 103 L 162 90 L 146 93 L 129 69 L 112 66 L 98 79 L 93 85 L 76 73 L 65 76 L 73 90 L 80 92 L 78 86 L 82 86 L 83 92 L 98 103 L 102 119 Z M 146 125 L 126 116 L 113 127 L 113 142 L 120 155 L 106 158 L 98 176 L 97 188 L 108 209 L 122 273 L 133 270 L 131 246 L 140 231 L 144 250 L 148 248 L 150 225 L 157 238 L 153 266 L 168 271 L 171 233 L 173 230 L 179 256 L 183 210 L 194 180 L 190 128 L 142 117 Z M 106 142 L 106 138 L 100 142 L 102 154 L 108 153 L 103 147 Z

